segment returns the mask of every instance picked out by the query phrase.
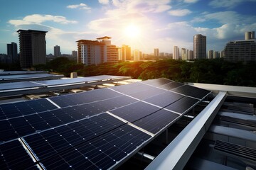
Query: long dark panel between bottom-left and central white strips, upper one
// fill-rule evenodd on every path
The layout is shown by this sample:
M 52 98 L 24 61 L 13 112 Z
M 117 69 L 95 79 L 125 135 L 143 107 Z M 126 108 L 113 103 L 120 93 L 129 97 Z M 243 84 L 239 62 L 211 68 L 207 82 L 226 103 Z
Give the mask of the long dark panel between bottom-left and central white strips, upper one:
M 107 113 L 102 113 L 92 118 L 29 135 L 24 137 L 24 140 L 39 159 L 44 159 L 52 154 L 63 152 L 65 149 L 70 149 L 88 140 L 92 140 L 92 138 L 98 137 L 123 124 L 117 118 Z

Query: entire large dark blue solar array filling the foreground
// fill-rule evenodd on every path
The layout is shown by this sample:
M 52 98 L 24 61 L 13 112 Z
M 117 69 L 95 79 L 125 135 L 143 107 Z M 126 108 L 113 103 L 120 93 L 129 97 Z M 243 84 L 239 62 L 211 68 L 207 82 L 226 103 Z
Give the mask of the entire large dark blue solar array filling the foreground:
M 2 104 L 0 167 L 117 167 L 209 93 L 169 79 L 154 79 Z

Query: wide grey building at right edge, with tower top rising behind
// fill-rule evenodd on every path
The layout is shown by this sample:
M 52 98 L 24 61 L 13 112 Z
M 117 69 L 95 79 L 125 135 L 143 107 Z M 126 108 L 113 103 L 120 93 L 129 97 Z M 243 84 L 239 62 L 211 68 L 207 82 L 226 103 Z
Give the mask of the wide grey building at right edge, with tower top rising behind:
M 245 40 L 230 41 L 224 48 L 224 60 L 230 62 L 256 62 L 254 31 L 245 33 Z

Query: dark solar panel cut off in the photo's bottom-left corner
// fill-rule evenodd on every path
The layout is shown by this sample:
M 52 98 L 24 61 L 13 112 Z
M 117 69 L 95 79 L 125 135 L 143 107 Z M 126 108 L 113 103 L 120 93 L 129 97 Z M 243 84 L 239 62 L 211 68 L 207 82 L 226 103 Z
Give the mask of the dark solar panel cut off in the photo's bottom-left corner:
M 37 169 L 18 140 L 0 145 L 0 169 Z

